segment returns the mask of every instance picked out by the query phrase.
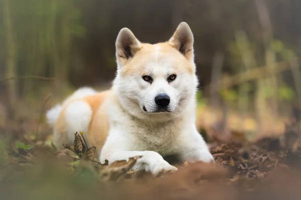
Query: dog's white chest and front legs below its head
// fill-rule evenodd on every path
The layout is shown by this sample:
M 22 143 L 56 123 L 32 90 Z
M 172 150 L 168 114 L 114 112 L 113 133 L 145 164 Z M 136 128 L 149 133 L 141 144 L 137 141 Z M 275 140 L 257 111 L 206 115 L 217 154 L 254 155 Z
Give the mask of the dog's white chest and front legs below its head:
M 170 120 L 163 122 L 133 118 L 122 107 L 113 102 L 106 103 L 111 128 L 100 154 L 102 163 L 141 155 L 133 168 L 157 175 L 161 171 L 177 170 L 163 159 L 162 156 L 166 155 L 178 154 L 183 161 L 189 162 L 214 161 L 194 123 L 194 100 L 181 117 L 167 117 Z M 161 118 L 160 114 L 157 115 Z

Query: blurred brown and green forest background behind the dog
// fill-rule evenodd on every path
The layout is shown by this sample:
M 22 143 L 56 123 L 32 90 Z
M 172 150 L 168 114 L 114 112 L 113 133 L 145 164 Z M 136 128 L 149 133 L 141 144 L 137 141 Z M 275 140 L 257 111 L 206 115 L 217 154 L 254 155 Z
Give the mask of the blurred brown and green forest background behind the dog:
M 186 21 L 199 128 L 250 139 L 299 132 L 300 0 L 0 0 L 0 13 L 1 127 L 39 120 L 79 86 L 108 88 L 122 27 L 156 43 Z

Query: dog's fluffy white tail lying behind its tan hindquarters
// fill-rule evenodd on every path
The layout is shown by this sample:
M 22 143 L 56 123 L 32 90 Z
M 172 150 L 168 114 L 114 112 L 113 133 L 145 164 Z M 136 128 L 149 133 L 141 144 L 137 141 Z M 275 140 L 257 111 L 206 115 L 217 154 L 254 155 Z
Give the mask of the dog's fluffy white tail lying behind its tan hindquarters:
M 97 91 L 91 87 L 79 88 L 73 94 L 71 94 L 71 96 L 69 96 L 62 104 L 57 104 L 46 112 L 47 123 L 51 126 L 54 126 L 54 124 L 56 123 L 56 121 L 59 118 L 59 115 L 63 109 L 63 106 L 65 104 L 67 104 L 68 102 L 88 96 L 88 95 L 92 95 L 95 93 L 97 93 Z

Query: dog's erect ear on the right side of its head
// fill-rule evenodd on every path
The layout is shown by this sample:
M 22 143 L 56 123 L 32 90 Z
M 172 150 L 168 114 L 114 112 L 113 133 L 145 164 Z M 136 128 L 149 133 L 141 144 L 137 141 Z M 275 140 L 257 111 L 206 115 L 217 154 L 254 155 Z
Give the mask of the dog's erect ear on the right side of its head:
M 193 34 L 186 22 L 181 22 L 168 43 L 187 59 L 193 58 Z

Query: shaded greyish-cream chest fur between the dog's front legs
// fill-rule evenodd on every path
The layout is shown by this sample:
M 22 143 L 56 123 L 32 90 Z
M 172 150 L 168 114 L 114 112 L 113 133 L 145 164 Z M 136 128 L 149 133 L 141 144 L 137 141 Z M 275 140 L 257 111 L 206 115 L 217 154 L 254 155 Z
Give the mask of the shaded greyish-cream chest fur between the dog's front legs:
M 136 147 L 140 150 L 153 150 L 161 155 L 172 152 L 181 131 L 179 124 L 176 123 L 160 125 L 137 124 L 133 129 Z

